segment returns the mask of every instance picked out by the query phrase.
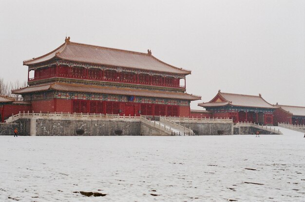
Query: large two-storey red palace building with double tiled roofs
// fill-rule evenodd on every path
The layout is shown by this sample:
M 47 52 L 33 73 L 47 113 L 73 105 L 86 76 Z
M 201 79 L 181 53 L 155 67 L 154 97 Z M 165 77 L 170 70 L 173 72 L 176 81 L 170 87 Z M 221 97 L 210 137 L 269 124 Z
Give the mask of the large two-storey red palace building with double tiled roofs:
M 13 91 L 34 112 L 189 116 L 186 93 L 191 71 L 148 53 L 75 43 L 66 38 L 54 51 L 26 60 L 28 87 Z M 31 77 L 30 75 L 34 75 Z

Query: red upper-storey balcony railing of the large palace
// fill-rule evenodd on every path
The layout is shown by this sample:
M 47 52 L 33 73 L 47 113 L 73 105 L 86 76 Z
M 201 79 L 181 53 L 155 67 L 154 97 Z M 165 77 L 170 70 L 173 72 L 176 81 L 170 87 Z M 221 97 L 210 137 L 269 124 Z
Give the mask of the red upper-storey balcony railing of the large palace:
M 129 84 L 140 84 L 140 85 L 149 85 L 149 86 L 163 86 L 163 87 L 170 87 L 170 88 L 180 88 L 185 89 L 185 85 L 179 85 L 179 84 L 172 84 L 167 83 L 165 79 L 163 79 L 163 82 L 154 82 L 152 79 L 151 81 L 139 81 L 138 78 L 135 78 L 134 80 L 129 79 L 122 79 L 122 78 L 107 78 L 107 77 L 95 77 L 90 75 L 73 75 L 73 74 L 61 74 L 61 73 L 53 73 L 53 74 L 45 74 L 42 76 L 35 76 L 33 78 L 28 78 L 28 81 L 37 81 L 41 79 L 46 78 L 54 78 L 54 77 L 60 77 L 60 78 L 75 78 L 75 79 L 86 79 L 86 80 L 94 80 L 94 81 L 109 81 L 109 82 L 115 82 L 115 83 L 129 83 Z

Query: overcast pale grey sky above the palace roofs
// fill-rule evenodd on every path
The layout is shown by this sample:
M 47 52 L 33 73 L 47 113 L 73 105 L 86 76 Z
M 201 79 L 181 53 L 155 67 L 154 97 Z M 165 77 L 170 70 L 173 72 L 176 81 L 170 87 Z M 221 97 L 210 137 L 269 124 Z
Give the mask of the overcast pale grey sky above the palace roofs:
M 305 106 L 305 0 L 0 0 L 0 77 L 26 80 L 66 35 L 191 70 L 192 109 L 219 89 Z

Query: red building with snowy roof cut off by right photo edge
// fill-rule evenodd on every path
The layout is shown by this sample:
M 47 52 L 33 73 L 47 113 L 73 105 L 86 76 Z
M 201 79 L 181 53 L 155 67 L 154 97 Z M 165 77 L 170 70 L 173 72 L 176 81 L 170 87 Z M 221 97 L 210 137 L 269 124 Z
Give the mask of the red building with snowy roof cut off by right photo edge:
M 289 123 L 293 125 L 305 124 L 305 107 L 274 105 L 277 109 L 274 111 L 274 125 L 278 123 Z

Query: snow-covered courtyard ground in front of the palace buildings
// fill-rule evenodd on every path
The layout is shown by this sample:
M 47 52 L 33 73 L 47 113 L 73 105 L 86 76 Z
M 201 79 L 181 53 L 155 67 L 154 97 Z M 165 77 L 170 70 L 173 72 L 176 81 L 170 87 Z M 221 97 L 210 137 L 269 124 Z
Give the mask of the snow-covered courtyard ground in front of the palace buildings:
M 259 138 L 1 136 L 0 202 L 304 202 L 304 134 L 282 131 Z

